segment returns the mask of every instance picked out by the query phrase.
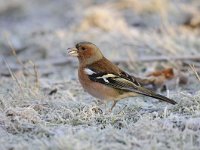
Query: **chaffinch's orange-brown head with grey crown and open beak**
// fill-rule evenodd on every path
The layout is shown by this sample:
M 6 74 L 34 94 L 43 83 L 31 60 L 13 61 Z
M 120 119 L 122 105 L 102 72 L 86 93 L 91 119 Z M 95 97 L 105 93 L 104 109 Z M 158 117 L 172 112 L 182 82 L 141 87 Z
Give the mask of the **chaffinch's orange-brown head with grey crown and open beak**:
M 92 64 L 103 58 L 99 48 L 90 42 L 80 42 L 74 48 L 69 48 L 68 54 L 78 57 L 80 63 Z

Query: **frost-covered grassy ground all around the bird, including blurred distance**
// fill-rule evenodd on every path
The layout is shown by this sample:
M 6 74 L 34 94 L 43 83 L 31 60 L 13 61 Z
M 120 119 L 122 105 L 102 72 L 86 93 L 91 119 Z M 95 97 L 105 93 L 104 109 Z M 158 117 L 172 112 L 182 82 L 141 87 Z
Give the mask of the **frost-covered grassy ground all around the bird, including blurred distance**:
M 200 81 L 189 67 L 200 71 L 199 16 L 199 0 L 0 0 L 0 149 L 199 149 Z M 137 76 L 184 74 L 162 93 L 178 104 L 128 98 L 109 113 L 66 54 L 79 41 Z M 152 60 L 163 57 L 184 59 Z

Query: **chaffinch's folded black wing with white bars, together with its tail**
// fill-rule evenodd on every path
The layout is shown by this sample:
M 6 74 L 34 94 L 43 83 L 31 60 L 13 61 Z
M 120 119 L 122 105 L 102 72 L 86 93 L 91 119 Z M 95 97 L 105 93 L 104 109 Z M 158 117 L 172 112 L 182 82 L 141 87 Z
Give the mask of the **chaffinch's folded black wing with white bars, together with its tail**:
M 176 104 L 174 100 L 171 100 L 160 94 L 156 94 L 155 92 L 142 87 L 140 83 L 137 82 L 135 77 L 130 76 L 125 72 L 121 72 L 120 74 L 114 74 L 102 72 L 93 68 L 85 68 L 84 71 L 91 81 L 98 82 L 115 89 L 131 91 L 141 95 L 146 95 L 159 100 L 163 100 L 171 104 Z

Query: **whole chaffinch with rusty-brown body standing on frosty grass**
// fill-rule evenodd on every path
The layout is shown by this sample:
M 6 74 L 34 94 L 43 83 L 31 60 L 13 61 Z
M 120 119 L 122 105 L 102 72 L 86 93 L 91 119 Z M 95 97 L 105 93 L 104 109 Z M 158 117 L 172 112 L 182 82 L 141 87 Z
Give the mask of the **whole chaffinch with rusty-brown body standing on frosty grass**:
M 75 44 L 75 47 L 68 48 L 68 54 L 78 58 L 78 78 L 83 89 L 100 100 L 113 101 L 111 111 L 119 100 L 136 96 L 176 104 L 176 101 L 145 88 L 142 80 L 113 64 L 91 42 Z

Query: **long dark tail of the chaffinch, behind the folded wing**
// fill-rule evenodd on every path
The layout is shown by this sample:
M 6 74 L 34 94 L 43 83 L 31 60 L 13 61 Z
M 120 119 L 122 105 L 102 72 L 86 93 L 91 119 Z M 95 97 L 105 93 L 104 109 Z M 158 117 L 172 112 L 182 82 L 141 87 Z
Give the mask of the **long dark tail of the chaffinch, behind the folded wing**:
M 155 92 L 153 92 L 149 89 L 140 87 L 138 90 L 139 90 L 138 93 L 141 94 L 141 95 L 149 96 L 149 97 L 161 100 L 161 101 L 168 102 L 168 103 L 173 104 L 173 105 L 177 104 L 177 102 L 175 102 L 174 100 L 167 98 L 163 95 L 156 94 Z

